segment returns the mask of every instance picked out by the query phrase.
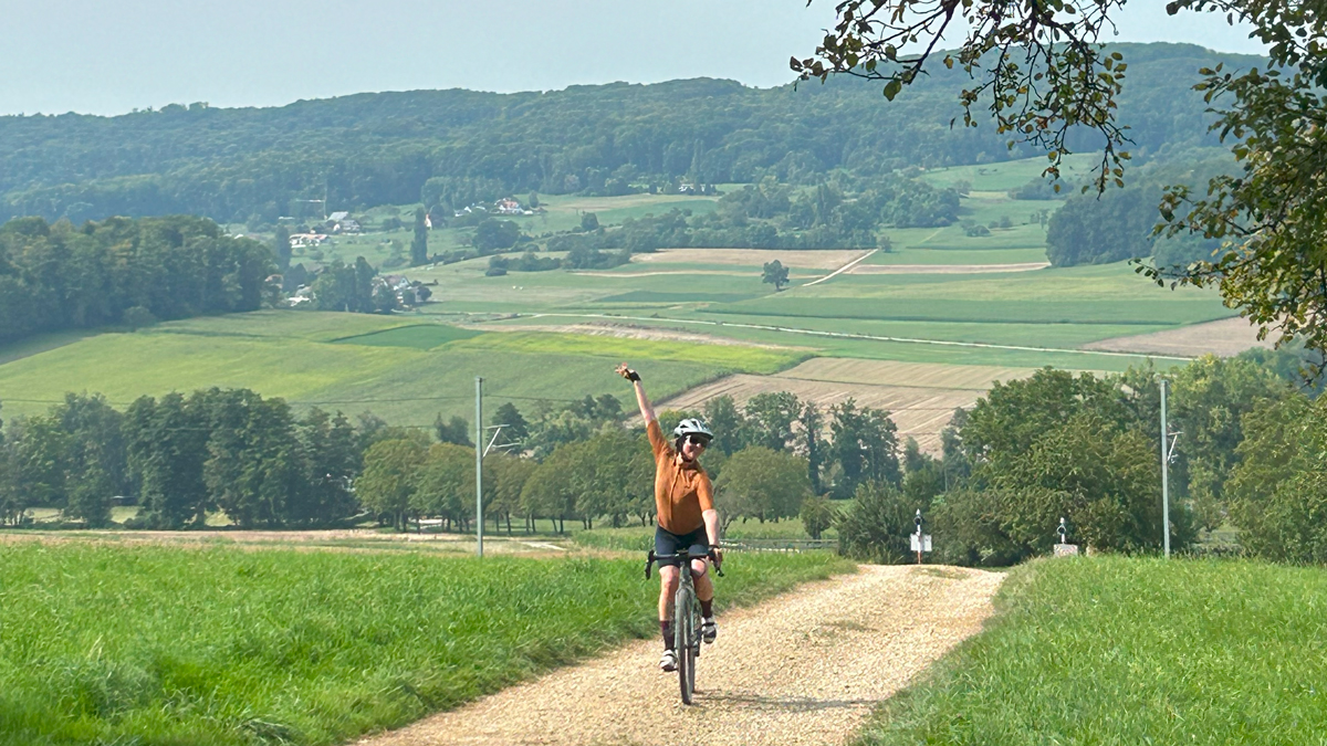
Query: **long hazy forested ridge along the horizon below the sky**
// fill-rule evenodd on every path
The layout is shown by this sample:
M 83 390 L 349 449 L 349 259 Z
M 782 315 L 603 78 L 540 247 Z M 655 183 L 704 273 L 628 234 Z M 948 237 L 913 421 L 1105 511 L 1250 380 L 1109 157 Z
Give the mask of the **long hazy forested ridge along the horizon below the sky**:
M 1255 57 L 1119 45 L 1121 121 L 1141 157 L 1212 143 L 1196 70 Z M 807 182 L 1026 157 L 993 126 L 950 129 L 967 82 L 940 68 L 886 105 L 857 80 L 774 89 L 733 81 L 573 86 L 549 93 L 421 90 L 273 109 L 173 105 L 121 117 L 0 117 L 0 219 L 198 214 L 271 222 L 292 200 L 333 208 L 451 203 L 632 185 Z M 1076 143 L 1091 147 L 1084 138 Z

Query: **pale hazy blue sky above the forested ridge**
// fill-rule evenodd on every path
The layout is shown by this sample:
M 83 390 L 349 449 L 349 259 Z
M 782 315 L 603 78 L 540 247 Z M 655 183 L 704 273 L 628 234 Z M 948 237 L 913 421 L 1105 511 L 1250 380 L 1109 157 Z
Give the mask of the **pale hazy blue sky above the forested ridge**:
M 1258 53 L 1223 17 L 1132 0 L 1120 41 Z M 833 0 L 0 0 L 0 114 L 346 93 L 791 80 Z

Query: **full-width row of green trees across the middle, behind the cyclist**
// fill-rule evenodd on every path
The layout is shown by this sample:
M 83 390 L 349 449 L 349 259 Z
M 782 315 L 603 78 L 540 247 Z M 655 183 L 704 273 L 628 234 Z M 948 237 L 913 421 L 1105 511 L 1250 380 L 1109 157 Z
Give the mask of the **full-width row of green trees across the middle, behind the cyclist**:
M 1303 353 L 1250 350 L 1204 357 L 1166 373 L 1170 427 L 1182 437 L 1170 467 L 1172 546 L 1196 547 L 1231 526 L 1243 551 L 1327 561 L 1319 503 L 1327 443 L 1319 386 Z M 780 392 L 706 402 L 718 434 L 703 463 L 725 530 L 794 516 L 813 536 L 837 528 L 840 551 L 905 561 L 921 510 L 938 559 L 1007 565 L 1046 554 L 1060 518 L 1070 538 L 1100 551 L 1161 544 L 1158 374 L 1042 369 L 997 384 L 941 434 L 938 457 L 900 442 L 888 411 L 848 400 L 819 406 Z M 484 514 L 494 530 L 552 531 L 653 520 L 653 461 L 642 433 L 622 426 L 613 396 L 499 406 L 498 451 L 484 461 Z M 311 409 L 244 389 L 143 397 L 123 413 L 69 394 L 46 414 L 17 418 L 0 439 L 0 520 L 29 507 L 106 526 L 114 499 L 139 506 L 130 527 L 336 526 L 377 519 L 406 530 L 474 520 L 474 442 L 464 418 L 431 431 L 364 414 Z M 848 500 L 847 498 L 851 498 Z M 519 528 L 518 528 L 519 527 Z

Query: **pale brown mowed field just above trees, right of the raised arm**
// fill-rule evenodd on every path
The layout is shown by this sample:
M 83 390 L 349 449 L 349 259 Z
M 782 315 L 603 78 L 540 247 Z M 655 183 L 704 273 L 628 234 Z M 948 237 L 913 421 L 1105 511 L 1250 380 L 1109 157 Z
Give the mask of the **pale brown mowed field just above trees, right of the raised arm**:
M 828 409 L 853 400 L 889 410 L 898 439 L 916 438 L 928 453 L 940 453 L 940 433 L 958 408 L 969 408 L 995 381 L 1031 376 L 1027 368 L 942 365 L 820 357 L 774 376 L 727 376 L 664 401 L 664 409 L 701 409 L 715 397 L 744 404 L 756 394 L 791 392 Z

